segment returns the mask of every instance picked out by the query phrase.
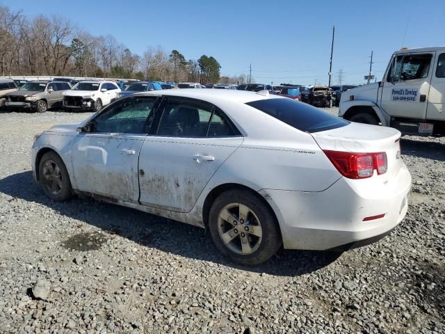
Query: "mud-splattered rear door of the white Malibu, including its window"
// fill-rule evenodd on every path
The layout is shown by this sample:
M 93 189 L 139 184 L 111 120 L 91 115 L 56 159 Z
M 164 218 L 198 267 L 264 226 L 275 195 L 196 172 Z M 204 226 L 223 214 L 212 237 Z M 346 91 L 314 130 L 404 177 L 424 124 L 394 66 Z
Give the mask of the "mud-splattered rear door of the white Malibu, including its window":
M 140 203 L 190 212 L 200 193 L 243 137 L 216 106 L 165 97 L 158 129 L 140 151 Z M 157 117 L 157 116 L 156 116 Z

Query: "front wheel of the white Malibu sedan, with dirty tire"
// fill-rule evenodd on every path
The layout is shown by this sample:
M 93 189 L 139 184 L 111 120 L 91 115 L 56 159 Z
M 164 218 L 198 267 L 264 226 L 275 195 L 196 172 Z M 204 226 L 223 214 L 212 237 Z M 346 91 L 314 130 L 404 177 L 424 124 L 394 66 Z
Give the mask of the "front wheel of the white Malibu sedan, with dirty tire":
M 56 152 L 47 152 L 40 159 L 39 182 L 51 200 L 63 202 L 72 197 L 70 175 Z

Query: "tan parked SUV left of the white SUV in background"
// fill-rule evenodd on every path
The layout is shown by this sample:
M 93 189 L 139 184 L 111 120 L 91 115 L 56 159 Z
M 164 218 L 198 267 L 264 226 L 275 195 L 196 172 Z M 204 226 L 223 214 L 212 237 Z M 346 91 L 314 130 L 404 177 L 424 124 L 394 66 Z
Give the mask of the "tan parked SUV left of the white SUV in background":
M 49 108 L 62 106 L 63 93 L 71 86 L 62 81 L 29 81 L 17 91 L 6 94 L 7 109 L 29 110 L 44 113 Z

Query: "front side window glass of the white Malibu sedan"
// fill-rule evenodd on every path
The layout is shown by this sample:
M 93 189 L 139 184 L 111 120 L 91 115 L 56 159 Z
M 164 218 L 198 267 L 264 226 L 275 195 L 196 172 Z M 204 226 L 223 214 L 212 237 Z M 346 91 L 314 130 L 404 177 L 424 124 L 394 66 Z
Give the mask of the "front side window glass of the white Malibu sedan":
M 91 132 L 148 134 L 156 99 L 156 97 L 131 97 L 113 104 L 92 120 Z

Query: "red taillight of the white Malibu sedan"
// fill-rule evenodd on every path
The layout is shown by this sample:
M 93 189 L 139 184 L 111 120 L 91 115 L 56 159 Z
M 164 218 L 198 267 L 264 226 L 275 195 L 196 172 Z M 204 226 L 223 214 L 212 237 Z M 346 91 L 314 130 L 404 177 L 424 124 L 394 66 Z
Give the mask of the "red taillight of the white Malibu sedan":
M 385 152 L 353 153 L 323 151 L 341 175 L 350 179 L 365 179 L 373 176 L 374 170 L 383 174 L 387 172 L 388 161 Z

